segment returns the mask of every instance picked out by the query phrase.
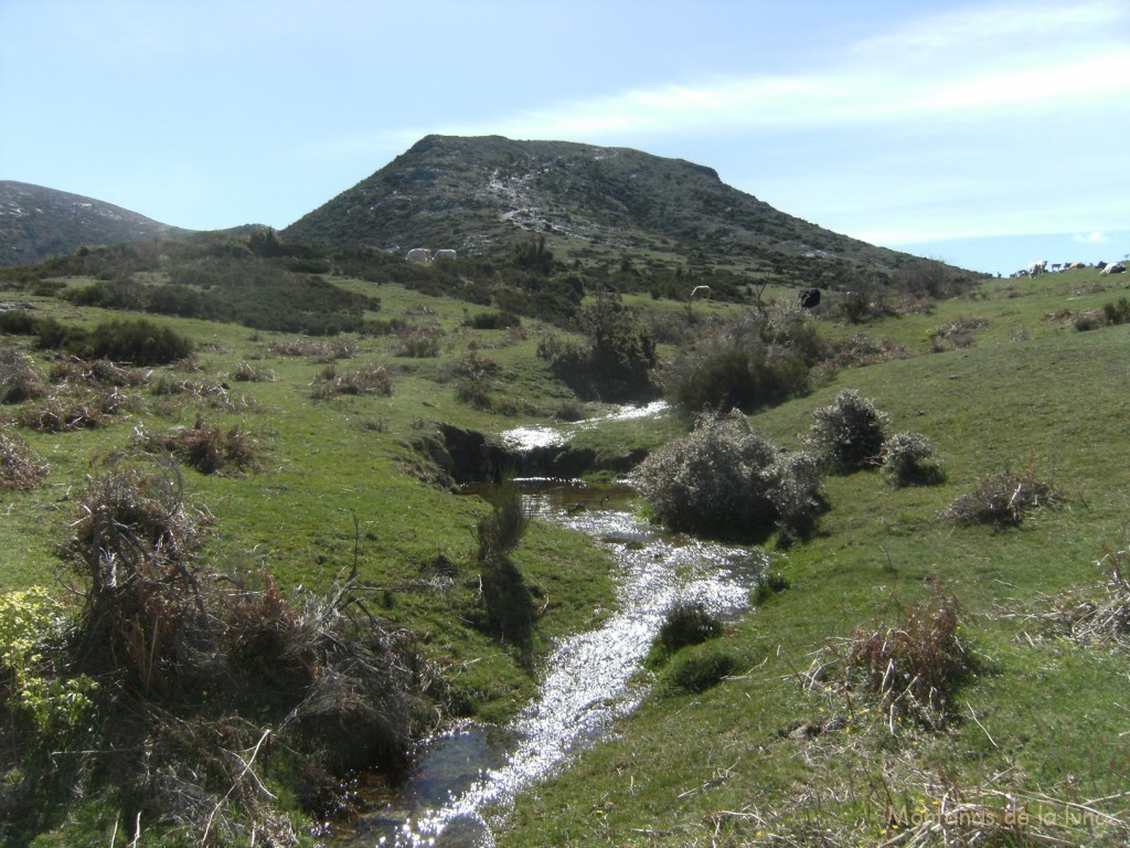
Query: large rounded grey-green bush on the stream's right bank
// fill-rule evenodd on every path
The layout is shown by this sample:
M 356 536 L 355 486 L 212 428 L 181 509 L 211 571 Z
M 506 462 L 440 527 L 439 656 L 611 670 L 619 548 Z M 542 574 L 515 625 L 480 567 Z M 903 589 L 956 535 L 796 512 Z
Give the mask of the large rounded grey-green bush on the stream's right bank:
M 815 458 L 789 453 L 754 433 L 746 417 L 703 414 L 636 471 L 655 518 L 675 530 L 782 540 L 807 535 L 819 514 L 823 481 Z

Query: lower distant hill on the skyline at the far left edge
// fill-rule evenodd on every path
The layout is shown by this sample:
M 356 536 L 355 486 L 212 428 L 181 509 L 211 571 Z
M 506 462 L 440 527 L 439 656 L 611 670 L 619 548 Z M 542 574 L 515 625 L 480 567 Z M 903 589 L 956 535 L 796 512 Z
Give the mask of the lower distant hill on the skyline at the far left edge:
M 85 245 L 188 234 L 94 198 L 0 181 L 0 266 L 31 265 Z

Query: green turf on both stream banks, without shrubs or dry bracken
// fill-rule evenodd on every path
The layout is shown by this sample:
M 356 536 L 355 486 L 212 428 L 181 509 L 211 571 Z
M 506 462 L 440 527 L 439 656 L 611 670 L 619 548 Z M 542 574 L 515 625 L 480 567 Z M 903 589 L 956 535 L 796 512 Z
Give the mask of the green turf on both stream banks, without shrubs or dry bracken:
M 354 285 L 358 291 L 368 286 Z M 1010 285 L 992 284 L 983 298 L 941 303 L 931 314 L 866 328 L 918 354 L 930 349 L 935 328 L 984 318 L 989 326 L 979 331 L 976 347 L 843 372 L 812 396 L 754 418 L 764 434 L 797 447 L 814 408 L 841 388 L 858 388 L 892 414 L 895 430 L 922 431 L 936 440 L 948 481 L 894 490 L 873 474 L 829 479 L 832 509 L 822 519 L 822 535 L 788 555 L 791 590 L 725 639 L 748 674 L 702 695 L 653 698 L 625 722 L 617 741 L 520 799 L 503 841 L 706 843 L 718 829 L 720 842 L 744 843 L 756 841 L 758 831 L 763 838 L 796 833 L 811 822 L 855 833 L 854 843 L 864 843 L 878 839 L 886 824 L 884 787 L 928 801 L 923 776 L 938 782 L 945 773 L 974 786 L 986 782 L 979 775 L 1005 772 L 1002 784 L 1042 787 L 1057 796 L 1067 794 L 1063 785 L 1071 776 L 1079 797 L 1109 794 L 1104 785 L 1111 775 L 1124 777 L 1110 764 L 1112 758 L 1115 765 L 1127 758 L 1118 737 L 1124 713 L 1113 706 L 1124 698 L 1124 684 L 1119 685 L 1124 658 L 1029 643 L 1020 635 L 1027 625 L 1008 614 L 1036 606 L 1044 592 L 1094 585 L 1102 545 L 1119 542 L 1128 514 L 1123 387 L 1130 377 L 1130 328 L 1077 334 L 1062 318 L 1045 317 L 1064 308 L 1096 309 L 1124 292 L 1102 291 L 1118 282 L 1097 275 L 1049 277 L 1016 292 L 1008 291 Z M 351 565 L 356 540 L 363 578 L 389 590 L 377 595 L 389 600 L 384 614 L 420 634 L 425 651 L 450 669 L 471 708 L 501 718 L 529 695 L 534 681 L 504 646 L 460 622 L 461 605 L 473 595 L 472 528 L 484 507 L 421 483 L 419 460 L 407 445 L 436 421 L 487 431 L 540 421 L 568 392 L 537 360 L 536 329 L 524 338 L 470 331 L 459 326 L 464 304 L 398 286 L 381 286 L 377 293 L 380 317 L 434 321 L 446 334 L 434 360 L 397 357 L 394 340 L 382 338 L 363 340 L 353 358 L 338 361 L 339 372 L 373 362 L 392 365 L 391 398 L 315 403 L 310 383 L 324 363 L 270 354 L 269 343 L 284 337 L 172 322 L 209 343 L 199 357 L 202 375 L 226 379 L 234 393 L 253 399 L 244 409 L 205 409 L 208 421 L 241 426 L 266 449 L 262 470 L 240 479 L 190 471 L 189 491 L 217 518 L 209 555 L 221 568 L 266 565 L 285 586 L 321 588 Z M 36 303 L 67 320 L 101 314 L 46 298 Z M 640 305 L 647 302 L 641 298 Z M 828 335 L 854 330 L 822 329 Z M 494 393 L 518 410 L 514 416 L 472 409 L 455 400 L 450 381 L 436 381 L 472 341 L 479 356 L 503 366 Z M 279 380 L 233 382 L 232 372 L 244 361 L 275 371 Z M 192 404 L 165 409 L 150 397 L 145 412 L 98 430 L 52 436 L 24 431 L 52 469 L 43 488 L 0 494 L 3 587 L 51 581 L 52 547 L 66 534 L 72 490 L 93 470 L 94 458 L 127 447 L 136 426 L 165 432 L 191 425 L 197 412 Z M 581 440 L 608 450 L 653 447 L 670 438 L 672 427 L 670 418 L 659 425 L 629 422 Z M 1064 509 L 997 535 L 938 520 L 938 510 L 983 474 L 1029 464 L 1068 495 Z M 447 594 L 425 585 L 441 554 L 455 564 L 457 586 Z M 605 560 L 563 530 L 536 526 L 515 559 L 547 600 L 538 647 L 588 625 L 592 611 L 610 597 Z M 873 717 L 854 715 L 851 734 L 827 734 L 807 746 L 781 739 L 779 732 L 797 721 L 844 711 L 843 704 L 800 685 L 796 672 L 808 666 L 812 651 L 889 614 L 896 599 L 922 597 L 933 577 L 960 597 L 966 632 L 984 658 L 985 674 L 959 699 L 984 729 L 967 720 L 951 735 L 890 741 L 885 732 L 868 729 Z M 781 811 L 793 811 L 800 823 L 766 824 Z M 844 843 L 853 839 L 845 837 Z

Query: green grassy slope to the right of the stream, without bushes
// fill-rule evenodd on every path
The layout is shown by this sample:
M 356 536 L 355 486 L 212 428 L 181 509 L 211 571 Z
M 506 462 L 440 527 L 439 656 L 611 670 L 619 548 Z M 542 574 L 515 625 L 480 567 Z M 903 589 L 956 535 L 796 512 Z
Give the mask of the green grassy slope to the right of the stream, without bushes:
M 893 430 L 936 440 L 948 481 L 896 490 L 877 474 L 829 478 L 820 535 L 788 554 L 791 589 L 724 639 L 745 673 L 697 695 L 657 692 L 615 741 L 521 798 L 501 843 L 876 845 L 897 836 L 892 804 L 937 813 L 944 797 L 953 806 L 979 789 L 1022 793 L 1029 822 L 1044 815 L 1041 830 L 1068 843 L 1103 841 L 1078 824 L 1094 816 L 1038 794 L 1081 803 L 1125 791 L 1125 656 L 1041 638 L 1025 616 L 1061 590 L 1094 597 L 1103 546 L 1125 544 L 1130 327 L 1075 332 L 1045 320 L 1124 289 L 1097 276 L 1081 287 L 1109 291 L 1045 278 L 1015 297 L 999 291 L 1008 285 L 869 328 L 927 349 L 930 329 L 979 314 L 991 323 L 977 347 L 844 372 L 754 417 L 758 431 L 798 447 L 814 408 L 858 388 L 890 413 Z M 982 475 L 1029 465 L 1067 495 L 1064 508 L 999 534 L 939 520 Z M 881 717 L 803 685 L 800 672 L 823 649 L 858 626 L 896 623 L 899 602 L 924 597 L 935 579 L 960 599 L 964 638 L 981 661 L 950 732 L 892 737 Z M 783 736 L 832 715 L 847 727 L 807 743 Z M 1124 810 L 1124 797 L 1102 808 Z M 912 837 L 927 839 L 904 830 Z

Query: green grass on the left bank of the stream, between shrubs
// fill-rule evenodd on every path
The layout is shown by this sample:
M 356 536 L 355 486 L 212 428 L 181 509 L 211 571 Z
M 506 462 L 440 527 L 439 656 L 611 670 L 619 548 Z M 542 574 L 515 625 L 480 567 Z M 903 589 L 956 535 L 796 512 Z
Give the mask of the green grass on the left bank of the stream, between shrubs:
M 82 481 L 97 473 L 101 458 L 129 448 L 136 430 L 165 433 L 192 426 L 202 414 L 225 431 L 250 433 L 262 449 L 262 468 L 246 476 L 184 471 L 189 497 L 216 518 L 216 538 L 206 553 L 210 564 L 220 570 L 266 568 L 284 588 L 321 590 L 348 573 L 356 555 L 360 579 L 374 587 L 382 615 L 416 632 L 425 654 L 453 669 L 464 708 L 487 719 L 512 712 L 532 693 L 534 677 L 510 647 L 462 621 L 477 588 L 475 525 L 486 507 L 426 482 L 429 469 L 410 445 L 441 421 L 488 431 L 513 424 L 459 403 L 452 382 L 434 379 L 468 353 L 472 340 L 480 356 L 506 360 L 494 395 L 513 400 L 527 415 L 550 415 L 566 392 L 533 355 L 536 334 L 522 338 L 462 328 L 466 304 L 412 295 L 399 286 L 379 288 L 381 318 L 434 322 L 445 332 L 436 358 L 397 356 L 397 340 L 389 337 L 358 340 L 356 354 L 334 363 L 339 373 L 375 363 L 392 367 L 391 397 L 314 400 L 311 383 L 327 367 L 323 357 L 286 357 L 270 351 L 275 341 L 302 339 L 169 319 L 203 349 L 195 372 L 174 367 L 168 373 L 224 381 L 238 408 L 217 410 L 140 389 L 140 410 L 95 430 L 44 435 L 19 429 L 51 470 L 45 485 L 29 493 L 0 492 L 0 589 L 55 585 L 54 548 L 67 536 Z M 27 298 L 20 293 L 19 300 Z M 106 314 L 33 300 L 41 314 L 61 320 L 86 322 Z M 25 344 L 5 339 L 11 341 Z M 47 372 L 51 363 L 35 356 Z M 278 380 L 237 382 L 232 374 L 241 362 L 273 372 Z M 165 370 L 158 369 L 154 377 L 162 373 Z M 545 650 L 555 635 L 588 625 L 593 611 L 612 597 L 606 557 L 564 529 L 536 522 L 514 560 L 545 605 L 533 634 L 536 651 Z M 437 571 L 452 574 L 454 587 L 429 587 Z

